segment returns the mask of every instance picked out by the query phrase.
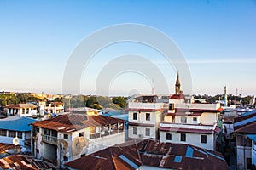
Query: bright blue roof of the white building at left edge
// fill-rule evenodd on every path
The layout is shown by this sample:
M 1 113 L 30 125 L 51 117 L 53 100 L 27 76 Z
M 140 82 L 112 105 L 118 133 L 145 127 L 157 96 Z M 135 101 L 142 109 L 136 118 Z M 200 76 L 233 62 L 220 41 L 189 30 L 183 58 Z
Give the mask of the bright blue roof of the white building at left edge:
M 0 129 L 6 130 L 14 130 L 14 131 L 31 131 L 30 124 L 36 122 L 37 120 L 27 118 L 27 117 L 20 117 L 16 120 L 9 120 L 9 121 L 0 121 Z

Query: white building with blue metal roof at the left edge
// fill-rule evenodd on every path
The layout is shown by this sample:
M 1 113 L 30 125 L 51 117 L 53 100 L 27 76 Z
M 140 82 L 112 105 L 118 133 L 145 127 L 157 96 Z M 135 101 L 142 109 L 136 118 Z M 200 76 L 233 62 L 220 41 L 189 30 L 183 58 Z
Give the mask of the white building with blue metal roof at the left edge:
M 13 144 L 13 139 L 17 137 L 20 145 L 30 149 L 31 127 L 30 124 L 36 122 L 34 119 L 20 116 L 9 116 L 0 119 L 0 141 L 5 144 Z

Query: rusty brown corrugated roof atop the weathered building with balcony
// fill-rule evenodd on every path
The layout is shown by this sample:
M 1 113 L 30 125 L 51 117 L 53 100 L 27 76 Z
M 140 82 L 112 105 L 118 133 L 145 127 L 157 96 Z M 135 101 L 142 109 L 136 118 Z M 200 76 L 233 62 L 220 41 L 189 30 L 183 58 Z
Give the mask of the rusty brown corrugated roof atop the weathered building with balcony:
M 125 121 L 110 116 L 86 116 L 81 114 L 67 114 L 44 121 L 34 122 L 32 125 L 61 132 L 73 132 L 86 127 L 105 126 L 118 122 L 122 123 Z

